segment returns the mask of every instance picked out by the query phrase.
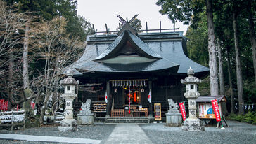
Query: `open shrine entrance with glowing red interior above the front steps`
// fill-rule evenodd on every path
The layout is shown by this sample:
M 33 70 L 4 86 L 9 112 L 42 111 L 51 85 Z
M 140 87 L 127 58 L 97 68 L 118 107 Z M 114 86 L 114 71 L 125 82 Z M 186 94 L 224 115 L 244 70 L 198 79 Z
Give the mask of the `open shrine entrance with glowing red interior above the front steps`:
M 113 87 L 111 117 L 148 117 L 144 103 L 148 80 L 110 80 Z M 148 90 L 147 90 L 148 92 Z

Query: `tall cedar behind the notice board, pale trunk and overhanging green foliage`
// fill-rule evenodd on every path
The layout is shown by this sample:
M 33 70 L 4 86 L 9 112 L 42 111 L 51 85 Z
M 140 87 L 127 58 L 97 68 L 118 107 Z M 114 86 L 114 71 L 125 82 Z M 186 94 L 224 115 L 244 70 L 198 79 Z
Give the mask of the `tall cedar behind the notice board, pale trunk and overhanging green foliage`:
M 205 3 L 204 3 L 205 2 Z M 198 15 L 206 6 L 207 28 L 208 28 L 208 53 L 210 67 L 210 92 L 211 95 L 219 94 L 219 84 L 217 78 L 217 55 L 215 50 L 215 30 L 212 15 L 212 0 L 190 1 L 190 0 L 158 0 L 156 3 L 161 6 L 160 13 L 168 15 L 172 21 L 180 20 L 184 24 L 196 24 Z

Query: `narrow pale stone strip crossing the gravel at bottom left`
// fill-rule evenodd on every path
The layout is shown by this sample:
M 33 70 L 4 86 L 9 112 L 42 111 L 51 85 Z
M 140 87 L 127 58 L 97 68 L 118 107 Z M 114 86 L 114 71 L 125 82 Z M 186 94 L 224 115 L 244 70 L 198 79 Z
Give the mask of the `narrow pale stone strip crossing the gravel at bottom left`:
M 57 142 L 57 143 L 90 143 L 98 144 L 101 140 L 91 140 L 87 138 L 68 138 L 58 136 L 32 136 L 24 134 L 0 134 L 0 139 L 20 140 L 20 141 L 42 141 L 42 142 Z

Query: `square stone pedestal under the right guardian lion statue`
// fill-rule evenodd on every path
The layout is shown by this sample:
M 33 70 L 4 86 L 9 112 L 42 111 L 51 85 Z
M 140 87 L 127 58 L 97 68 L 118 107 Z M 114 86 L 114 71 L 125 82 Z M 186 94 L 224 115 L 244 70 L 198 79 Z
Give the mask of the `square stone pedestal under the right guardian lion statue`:
M 166 115 L 166 124 L 181 124 L 182 115 L 179 113 L 179 110 L 169 110 Z

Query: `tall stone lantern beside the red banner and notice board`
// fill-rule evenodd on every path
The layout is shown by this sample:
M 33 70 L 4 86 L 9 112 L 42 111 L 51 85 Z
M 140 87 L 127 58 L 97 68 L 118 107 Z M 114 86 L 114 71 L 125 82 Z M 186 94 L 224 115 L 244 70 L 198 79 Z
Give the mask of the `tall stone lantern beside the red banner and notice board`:
M 196 99 L 200 94 L 198 93 L 198 83 L 200 79 L 193 76 L 194 71 L 191 67 L 188 69 L 188 77 L 185 80 L 181 80 L 182 84 L 186 85 L 186 93 L 184 96 L 188 99 L 188 119 L 184 121 L 182 129 L 185 131 L 204 131 L 205 127 L 202 126 L 202 122 L 196 117 Z

